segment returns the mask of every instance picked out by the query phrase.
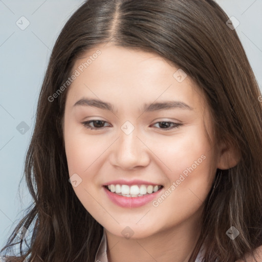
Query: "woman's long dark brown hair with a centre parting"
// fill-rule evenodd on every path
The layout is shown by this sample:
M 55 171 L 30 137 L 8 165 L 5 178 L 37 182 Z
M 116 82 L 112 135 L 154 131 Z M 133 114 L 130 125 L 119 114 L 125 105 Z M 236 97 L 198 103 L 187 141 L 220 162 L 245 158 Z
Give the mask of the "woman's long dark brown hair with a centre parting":
M 203 243 L 206 262 L 232 262 L 262 245 L 262 103 L 228 19 L 212 0 L 90 0 L 80 6 L 63 27 L 43 80 L 25 164 L 33 204 L 2 249 L 7 254 L 20 244 L 19 256 L 8 261 L 94 262 L 103 228 L 68 181 L 61 121 L 69 87 L 50 97 L 80 54 L 107 42 L 157 53 L 183 69 L 204 91 L 218 143 L 240 152 L 235 167 L 217 170 L 189 262 Z M 25 248 L 26 238 L 16 236 L 21 226 L 32 228 Z M 231 226 L 239 231 L 234 240 L 226 234 Z

